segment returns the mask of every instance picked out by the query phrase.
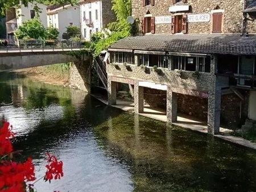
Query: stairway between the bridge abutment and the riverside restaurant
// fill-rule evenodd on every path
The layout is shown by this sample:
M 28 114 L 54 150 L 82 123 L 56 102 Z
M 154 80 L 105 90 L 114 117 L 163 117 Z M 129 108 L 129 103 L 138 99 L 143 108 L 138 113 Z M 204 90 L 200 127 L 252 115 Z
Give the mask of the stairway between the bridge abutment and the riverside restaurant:
M 93 60 L 93 66 L 96 70 L 98 78 L 100 78 L 104 88 L 108 90 L 108 74 L 106 73 L 106 64 L 102 61 L 101 57 L 96 57 Z

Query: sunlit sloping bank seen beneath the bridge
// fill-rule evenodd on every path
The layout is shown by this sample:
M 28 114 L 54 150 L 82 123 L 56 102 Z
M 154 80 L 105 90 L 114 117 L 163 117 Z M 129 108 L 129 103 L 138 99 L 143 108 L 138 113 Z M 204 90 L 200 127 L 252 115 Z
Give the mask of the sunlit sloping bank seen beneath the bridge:
M 51 66 L 38 66 L 36 68 L 15 70 L 14 72 L 22 74 L 33 81 L 68 87 L 70 78 L 70 68 L 68 65 L 69 64 L 55 64 Z

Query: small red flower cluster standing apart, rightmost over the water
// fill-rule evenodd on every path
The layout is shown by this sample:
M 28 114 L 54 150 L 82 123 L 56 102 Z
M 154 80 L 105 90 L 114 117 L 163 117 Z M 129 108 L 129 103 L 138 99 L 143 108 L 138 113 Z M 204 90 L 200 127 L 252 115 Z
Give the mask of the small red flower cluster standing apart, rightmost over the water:
M 51 182 L 53 178 L 55 180 L 60 179 L 64 176 L 63 174 L 63 162 L 58 161 L 55 156 L 51 156 L 49 153 L 47 153 L 48 156 L 48 165 L 46 165 L 47 171 L 46 176 L 44 177 L 44 180 Z

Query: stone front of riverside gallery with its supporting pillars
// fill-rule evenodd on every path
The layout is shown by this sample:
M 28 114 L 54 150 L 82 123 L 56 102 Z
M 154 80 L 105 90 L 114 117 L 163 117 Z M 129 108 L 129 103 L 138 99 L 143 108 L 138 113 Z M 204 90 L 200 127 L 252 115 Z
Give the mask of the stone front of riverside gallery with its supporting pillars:
M 201 73 L 194 76 L 194 72 L 178 71 L 162 68 L 162 73 L 157 73 L 153 68 L 142 68 L 138 65 L 137 56 L 135 56 L 135 65 L 129 65 L 130 70 L 121 64 L 109 64 L 106 67 L 109 79 L 109 101 L 115 103 L 112 96 L 113 85 L 112 77 L 115 81 L 133 83 L 134 82 L 134 110 L 135 113 L 143 112 L 144 89 L 139 86 L 139 82 L 152 82 L 154 84 L 167 86 L 167 121 L 175 122 L 177 120 L 178 93 L 188 94 L 197 97 L 208 98 L 208 132 L 218 133 L 220 128 L 221 112 L 221 87 L 228 87 L 229 80 L 226 77 L 217 77 L 217 56 L 212 55 L 210 61 L 210 73 Z M 118 67 L 117 67 L 118 66 Z M 112 85 L 113 84 L 113 85 Z M 184 90 L 184 93 L 183 93 Z M 114 98 L 115 101 L 116 98 Z

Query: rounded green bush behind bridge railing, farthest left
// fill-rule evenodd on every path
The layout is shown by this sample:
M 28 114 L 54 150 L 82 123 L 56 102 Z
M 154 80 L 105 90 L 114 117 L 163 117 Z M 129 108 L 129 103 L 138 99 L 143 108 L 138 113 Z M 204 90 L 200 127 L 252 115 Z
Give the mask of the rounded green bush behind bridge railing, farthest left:
M 17 39 L 46 39 L 47 30 L 42 22 L 37 19 L 27 20 L 15 31 Z

